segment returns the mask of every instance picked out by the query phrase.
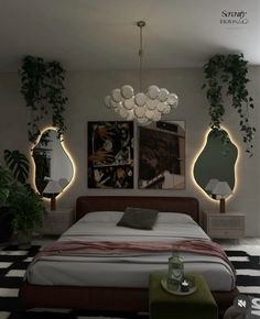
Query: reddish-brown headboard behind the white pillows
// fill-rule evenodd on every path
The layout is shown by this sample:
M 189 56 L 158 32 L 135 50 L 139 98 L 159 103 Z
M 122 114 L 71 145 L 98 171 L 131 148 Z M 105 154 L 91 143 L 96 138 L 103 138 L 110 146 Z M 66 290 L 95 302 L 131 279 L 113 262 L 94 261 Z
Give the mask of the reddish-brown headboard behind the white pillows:
M 185 212 L 196 222 L 199 218 L 198 200 L 194 197 L 80 196 L 76 202 L 76 220 L 90 211 L 123 211 L 128 206 L 153 208 L 159 211 Z

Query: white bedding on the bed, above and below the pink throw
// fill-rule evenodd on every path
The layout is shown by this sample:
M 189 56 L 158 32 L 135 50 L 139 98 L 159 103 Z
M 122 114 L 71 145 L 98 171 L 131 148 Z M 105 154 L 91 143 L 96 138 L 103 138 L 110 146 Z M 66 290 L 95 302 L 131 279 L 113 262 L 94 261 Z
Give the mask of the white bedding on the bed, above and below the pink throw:
M 96 211 L 87 213 L 59 239 L 64 241 L 153 242 L 203 240 L 210 241 L 203 229 L 187 215 L 160 212 L 153 230 L 116 226 L 123 212 Z M 235 275 L 217 256 L 180 252 L 184 272 L 202 274 L 210 290 L 229 292 Z M 151 272 L 167 272 L 169 252 L 128 255 L 47 255 L 32 263 L 26 279 L 34 285 L 72 285 L 95 287 L 148 287 Z

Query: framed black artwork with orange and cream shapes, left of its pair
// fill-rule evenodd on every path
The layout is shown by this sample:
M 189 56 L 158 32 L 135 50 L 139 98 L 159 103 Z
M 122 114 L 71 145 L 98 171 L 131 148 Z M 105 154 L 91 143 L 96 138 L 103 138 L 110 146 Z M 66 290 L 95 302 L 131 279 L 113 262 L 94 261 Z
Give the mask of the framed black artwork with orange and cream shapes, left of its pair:
M 88 122 L 88 188 L 133 188 L 133 122 Z

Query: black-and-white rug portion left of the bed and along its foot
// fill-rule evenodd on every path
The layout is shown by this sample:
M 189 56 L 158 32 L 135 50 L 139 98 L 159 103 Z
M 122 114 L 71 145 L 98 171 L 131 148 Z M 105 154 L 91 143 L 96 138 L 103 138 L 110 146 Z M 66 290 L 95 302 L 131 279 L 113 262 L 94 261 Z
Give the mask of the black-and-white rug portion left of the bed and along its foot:
M 148 319 L 143 314 L 100 314 L 71 309 L 33 309 L 21 311 L 19 287 L 25 270 L 37 253 L 40 245 L 19 249 L 10 245 L 0 250 L 0 319 Z

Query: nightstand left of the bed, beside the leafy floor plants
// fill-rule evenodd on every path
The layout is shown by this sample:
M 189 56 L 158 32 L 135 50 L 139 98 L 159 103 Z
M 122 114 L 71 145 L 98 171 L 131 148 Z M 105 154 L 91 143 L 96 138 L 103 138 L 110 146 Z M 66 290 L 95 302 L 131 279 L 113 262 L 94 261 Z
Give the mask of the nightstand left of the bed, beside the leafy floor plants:
M 73 208 L 62 208 L 57 210 L 47 210 L 43 218 L 43 235 L 59 235 L 64 233 L 75 221 Z

